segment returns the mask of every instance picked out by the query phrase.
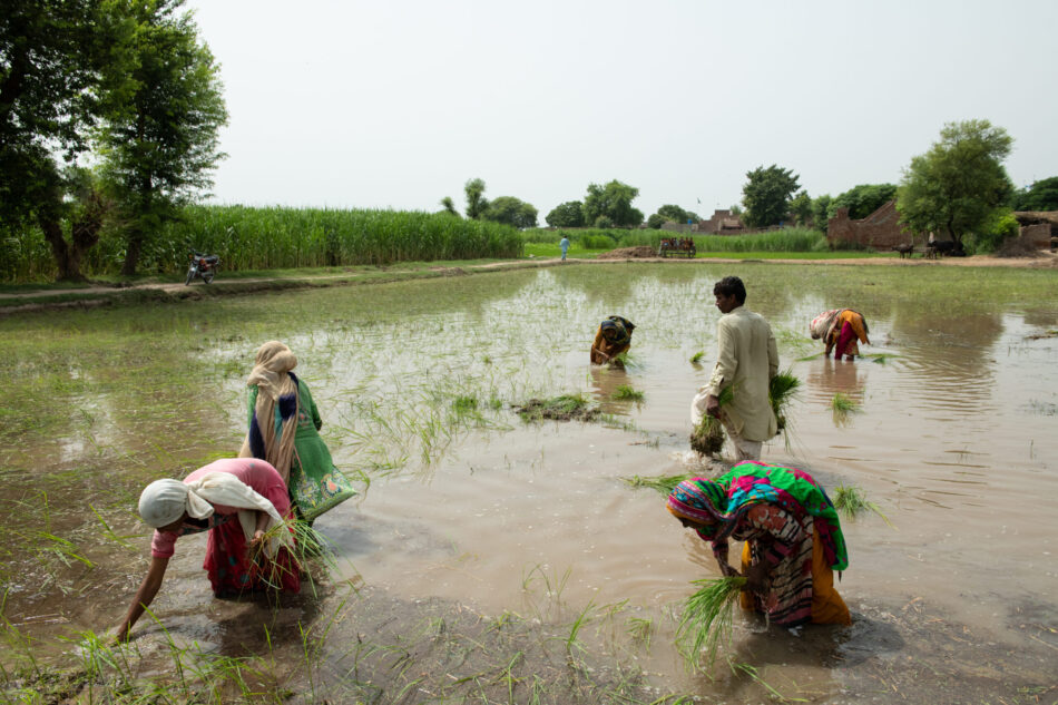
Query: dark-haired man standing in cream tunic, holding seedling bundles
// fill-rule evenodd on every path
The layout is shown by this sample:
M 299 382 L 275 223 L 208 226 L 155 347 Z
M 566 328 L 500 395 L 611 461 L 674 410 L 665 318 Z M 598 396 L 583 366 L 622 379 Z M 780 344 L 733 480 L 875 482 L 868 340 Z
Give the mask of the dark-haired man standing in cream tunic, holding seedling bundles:
M 703 413 L 719 419 L 735 447 L 735 460 L 760 460 L 761 444 L 778 432 L 768 401 L 768 383 L 778 373 L 775 336 L 764 316 L 743 305 L 746 287 L 737 276 L 717 282 L 713 295 L 724 314 L 716 323 L 716 365 L 694 399 L 690 420 L 697 427 Z M 728 388 L 731 401 L 722 405 L 722 392 Z

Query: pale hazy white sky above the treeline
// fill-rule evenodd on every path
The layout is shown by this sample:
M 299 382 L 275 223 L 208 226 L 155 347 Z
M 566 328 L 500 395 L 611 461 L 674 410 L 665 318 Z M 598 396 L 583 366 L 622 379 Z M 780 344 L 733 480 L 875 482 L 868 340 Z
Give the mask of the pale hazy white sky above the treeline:
M 708 216 L 778 164 L 813 197 L 898 183 L 946 121 L 1058 175 L 1058 1 L 189 0 L 225 84 L 225 204 L 543 217 L 589 183 Z

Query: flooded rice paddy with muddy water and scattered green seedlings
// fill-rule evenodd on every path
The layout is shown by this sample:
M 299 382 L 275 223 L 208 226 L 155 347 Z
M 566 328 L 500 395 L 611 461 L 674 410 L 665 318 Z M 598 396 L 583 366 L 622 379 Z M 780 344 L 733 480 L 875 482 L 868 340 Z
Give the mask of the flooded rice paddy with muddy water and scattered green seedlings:
M 763 459 L 861 488 L 891 526 L 843 521 L 851 628 L 739 614 L 735 667 L 707 676 L 673 631 L 690 581 L 717 575 L 708 546 L 623 478 L 717 471 L 688 453 L 688 409 L 727 274 L 804 382 Z M 839 306 L 882 356 L 815 355 L 807 322 Z M 592 368 L 615 313 L 637 325 L 629 364 Z M 109 647 L 148 561 L 139 490 L 235 454 L 271 339 L 363 490 L 316 522 L 336 568 L 297 597 L 217 600 L 204 537 L 182 539 L 158 621 Z M 0 341 L 8 701 L 1058 699 L 1055 273 L 570 265 L 40 313 L 0 320 Z M 601 422 L 511 409 L 577 392 Z

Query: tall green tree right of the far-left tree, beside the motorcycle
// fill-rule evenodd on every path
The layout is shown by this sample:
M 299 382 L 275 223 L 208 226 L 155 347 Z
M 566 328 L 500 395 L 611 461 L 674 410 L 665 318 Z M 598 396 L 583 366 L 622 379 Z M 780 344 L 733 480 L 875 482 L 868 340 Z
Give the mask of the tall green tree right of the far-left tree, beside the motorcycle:
M 225 156 L 219 66 L 183 6 L 131 1 L 133 67 L 98 137 L 102 174 L 124 223 L 126 275 L 136 273 L 150 236 L 213 185 L 212 172 Z

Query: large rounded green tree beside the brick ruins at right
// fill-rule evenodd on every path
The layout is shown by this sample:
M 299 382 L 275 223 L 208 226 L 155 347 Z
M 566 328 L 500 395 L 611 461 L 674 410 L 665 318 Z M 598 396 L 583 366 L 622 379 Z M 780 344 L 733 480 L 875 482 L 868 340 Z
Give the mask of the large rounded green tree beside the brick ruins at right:
M 960 245 L 966 234 L 986 229 L 1013 195 L 1002 165 L 1012 141 L 988 120 L 946 124 L 940 141 L 904 170 L 897 189 L 903 222 L 920 233 L 947 233 Z

